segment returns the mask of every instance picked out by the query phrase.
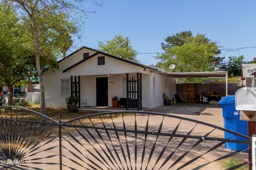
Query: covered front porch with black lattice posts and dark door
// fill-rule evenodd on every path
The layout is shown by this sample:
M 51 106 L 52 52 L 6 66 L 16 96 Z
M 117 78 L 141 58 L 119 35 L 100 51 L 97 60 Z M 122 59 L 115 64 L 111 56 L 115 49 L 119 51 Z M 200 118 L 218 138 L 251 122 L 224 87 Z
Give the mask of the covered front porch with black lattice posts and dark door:
M 150 77 L 142 73 L 71 76 L 71 96 L 80 98 L 81 110 L 141 111 L 149 108 L 149 84 L 142 90 L 142 79 L 149 82 Z M 119 98 L 120 107 L 112 107 L 112 96 Z

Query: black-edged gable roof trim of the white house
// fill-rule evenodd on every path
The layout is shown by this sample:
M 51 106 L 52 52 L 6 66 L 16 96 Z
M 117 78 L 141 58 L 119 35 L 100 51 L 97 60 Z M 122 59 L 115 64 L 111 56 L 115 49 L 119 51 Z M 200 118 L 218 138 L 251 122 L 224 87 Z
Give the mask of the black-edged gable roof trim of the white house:
M 114 59 L 116 59 L 116 60 L 120 60 L 120 61 L 123 61 L 123 62 L 126 62 L 126 63 L 130 63 L 130 64 L 133 64 L 133 65 L 142 67 L 142 68 L 147 68 L 147 69 L 151 69 L 151 70 L 154 70 L 154 71 L 158 71 L 158 69 L 155 69 L 154 67 L 150 67 L 150 66 L 147 66 L 147 65 L 143 65 L 143 64 L 140 64 L 140 63 L 137 63 L 137 62 L 134 62 L 134 61 L 131 61 L 131 60 L 127 60 L 127 59 L 125 59 L 125 58 L 117 57 L 117 56 L 114 56 L 114 55 L 111 55 L 111 54 L 108 54 L 108 53 L 103 53 L 103 52 L 101 52 L 101 51 L 99 51 L 99 50 L 95 50 L 95 49 L 88 48 L 88 47 L 82 47 L 82 49 L 83 49 L 83 48 L 90 49 L 90 50 L 94 50 L 96 53 L 90 55 L 90 56 L 87 57 L 86 59 L 83 59 L 83 60 L 81 60 L 81 61 L 75 63 L 74 65 L 71 65 L 71 66 L 68 67 L 67 69 L 63 70 L 63 73 L 67 72 L 67 71 L 70 70 L 70 69 L 73 69 L 75 66 L 77 66 L 77 65 L 79 65 L 79 64 L 81 64 L 81 63 L 83 63 L 83 62 L 85 62 L 85 61 L 87 61 L 87 60 L 89 60 L 90 58 L 92 58 L 92 57 L 94 57 L 94 56 L 96 56 L 96 55 L 98 55 L 98 54 L 101 54 L 101 55 L 104 55 L 104 56 L 108 56 L 108 57 L 111 57 L 111 58 L 114 58 Z M 68 55 L 67 57 L 70 57 L 71 55 L 73 55 L 73 54 L 79 52 L 79 50 L 81 50 L 81 48 L 78 49 L 78 50 L 76 50 L 74 53 L 71 53 L 71 54 Z M 65 58 L 67 58 L 67 57 L 65 57 Z M 64 58 L 64 60 L 65 60 L 65 58 Z

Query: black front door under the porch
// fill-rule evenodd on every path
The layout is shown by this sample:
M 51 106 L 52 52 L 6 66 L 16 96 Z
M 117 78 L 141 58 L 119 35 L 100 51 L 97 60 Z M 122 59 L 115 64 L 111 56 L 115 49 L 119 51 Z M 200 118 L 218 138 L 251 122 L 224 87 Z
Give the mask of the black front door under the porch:
M 97 106 L 108 106 L 108 78 L 96 78 Z

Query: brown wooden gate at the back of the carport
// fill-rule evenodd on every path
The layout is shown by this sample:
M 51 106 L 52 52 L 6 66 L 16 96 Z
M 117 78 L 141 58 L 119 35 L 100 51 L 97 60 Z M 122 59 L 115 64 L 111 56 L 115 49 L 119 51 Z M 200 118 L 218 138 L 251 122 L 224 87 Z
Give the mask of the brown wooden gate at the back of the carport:
M 182 101 L 183 102 L 197 102 L 196 83 L 182 84 Z

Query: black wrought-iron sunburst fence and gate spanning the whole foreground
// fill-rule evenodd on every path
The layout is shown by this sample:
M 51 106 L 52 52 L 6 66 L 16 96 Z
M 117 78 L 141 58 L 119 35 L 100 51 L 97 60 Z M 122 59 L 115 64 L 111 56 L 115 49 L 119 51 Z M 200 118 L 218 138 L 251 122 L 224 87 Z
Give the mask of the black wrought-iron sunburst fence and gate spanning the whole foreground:
M 21 107 L 0 111 L 0 164 L 12 169 L 208 169 L 246 158 L 251 145 L 243 134 L 171 114 L 120 111 L 61 123 Z M 228 142 L 245 149 L 230 153 Z

